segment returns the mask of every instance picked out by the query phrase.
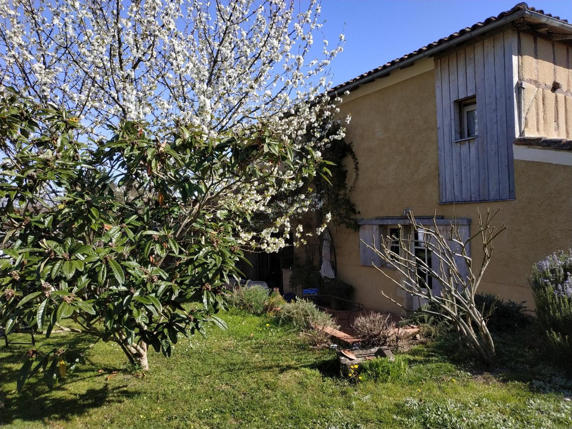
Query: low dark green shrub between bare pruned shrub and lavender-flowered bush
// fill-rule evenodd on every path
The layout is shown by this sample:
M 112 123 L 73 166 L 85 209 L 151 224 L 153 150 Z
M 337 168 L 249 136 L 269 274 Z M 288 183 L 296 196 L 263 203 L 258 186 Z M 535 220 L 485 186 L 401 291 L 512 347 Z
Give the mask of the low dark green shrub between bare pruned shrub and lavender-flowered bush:
M 516 303 L 515 301 L 503 301 L 492 293 L 477 293 L 475 295 L 475 305 L 487 318 L 487 327 L 491 331 L 505 332 L 513 328 L 526 328 L 533 317 L 526 309 L 525 301 Z

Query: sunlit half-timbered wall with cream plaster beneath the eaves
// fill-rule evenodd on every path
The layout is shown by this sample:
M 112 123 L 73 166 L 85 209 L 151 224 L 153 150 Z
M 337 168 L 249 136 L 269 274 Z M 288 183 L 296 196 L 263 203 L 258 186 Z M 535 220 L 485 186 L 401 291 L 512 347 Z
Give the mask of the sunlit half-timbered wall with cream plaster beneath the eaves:
M 572 138 L 572 48 L 518 35 L 519 136 Z

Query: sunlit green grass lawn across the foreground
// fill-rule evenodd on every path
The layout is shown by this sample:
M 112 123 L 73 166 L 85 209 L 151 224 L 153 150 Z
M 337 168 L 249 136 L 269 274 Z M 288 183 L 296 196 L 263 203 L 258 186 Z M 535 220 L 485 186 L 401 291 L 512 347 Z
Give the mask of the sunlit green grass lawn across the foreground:
M 337 376 L 334 352 L 309 347 L 296 332 L 265 317 L 236 311 L 225 313 L 223 319 L 228 331 L 212 327 L 206 339 L 182 338 L 170 359 L 151 352 L 151 371 L 144 376 L 126 367 L 119 348 L 97 343 L 88 353 L 88 363 L 65 383 L 50 392 L 37 378 L 21 395 L 15 392 L 15 378 L 28 346 L 12 345 L 8 351 L 2 341 L 0 425 L 26 429 L 572 426 L 570 403 L 561 393 L 550 392 L 554 386 L 566 389 L 567 381 L 542 364 L 532 368 L 510 359 L 518 370 L 490 375 L 447 359 L 450 354 L 443 352 L 447 345 L 434 344 L 407 353 L 410 369 L 398 382 L 351 383 Z M 77 337 L 50 339 L 62 344 L 64 340 L 69 343 Z M 507 349 L 507 357 L 510 354 Z M 119 373 L 106 380 L 112 371 Z

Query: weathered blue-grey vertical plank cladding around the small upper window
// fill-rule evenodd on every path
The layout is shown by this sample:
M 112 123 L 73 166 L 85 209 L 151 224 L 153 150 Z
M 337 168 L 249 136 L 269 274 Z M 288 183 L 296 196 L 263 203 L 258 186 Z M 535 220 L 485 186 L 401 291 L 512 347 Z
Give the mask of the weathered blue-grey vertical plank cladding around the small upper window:
M 516 41 L 505 30 L 435 59 L 441 202 L 515 197 Z M 456 101 L 472 96 L 478 136 L 461 140 Z

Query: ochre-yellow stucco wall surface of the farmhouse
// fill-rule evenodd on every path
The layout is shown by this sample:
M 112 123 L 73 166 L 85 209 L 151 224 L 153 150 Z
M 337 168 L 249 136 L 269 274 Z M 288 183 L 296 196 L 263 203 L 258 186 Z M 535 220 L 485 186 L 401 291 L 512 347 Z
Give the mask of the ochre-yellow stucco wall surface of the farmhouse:
M 572 166 L 515 160 L 516 200 L 439 204 L 434 82 L 434 71 L 429 70 L 362 97 L 357 97 L 358 89 L 340 106 L 341 114 L 352 116 L 346 140 L 353 142 L 359 160 L 352 193 L 359 216 L 401 216 L 410 207 L 418 216 L 436 210 L 437 215 L 467 217 L 476 223 L 477 208 L 501 208 L 496 223 L 508 229 L 495 240 L 480 290 L 526 300 L 534 307 L 527 281 L 531 265 L 572 246 Z M 376 268 L 360 265 L 358 232 L 333 229 L 332 236 L 338 276 L 356 287 L 355 300 L 368 308 L 402 312 L 380 290 L 404 303 L 403 292 Z M 478 243 L 471 250 L 480 260 Z

